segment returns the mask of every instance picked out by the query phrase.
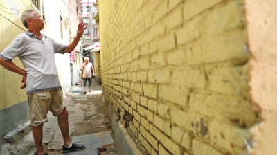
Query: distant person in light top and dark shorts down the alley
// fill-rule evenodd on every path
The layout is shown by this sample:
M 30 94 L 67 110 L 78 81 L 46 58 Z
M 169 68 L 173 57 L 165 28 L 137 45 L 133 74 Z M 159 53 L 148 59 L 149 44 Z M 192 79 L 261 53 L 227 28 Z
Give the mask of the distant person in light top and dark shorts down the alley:
M 84 57 L 84 63 L 81 64 L 82 80 L 84 80 L 84 94 L 87 93 L 87 81 L 89 81 L 89 92 L 91 92 L 91 78 L 95 76 L 93 64 L 89 62 L 89 57 Z

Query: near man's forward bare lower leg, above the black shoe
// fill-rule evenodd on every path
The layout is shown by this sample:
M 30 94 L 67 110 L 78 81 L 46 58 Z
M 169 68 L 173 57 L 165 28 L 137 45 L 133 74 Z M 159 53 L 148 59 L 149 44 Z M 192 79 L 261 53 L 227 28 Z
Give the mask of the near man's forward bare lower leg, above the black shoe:
M 71 144 L 69 136 L 69 112 L 65 108 L 62 113 L 57 116 L 57 122 L 62 132 L 62 138 L 64 138 L 64 146 L 69 146 Z

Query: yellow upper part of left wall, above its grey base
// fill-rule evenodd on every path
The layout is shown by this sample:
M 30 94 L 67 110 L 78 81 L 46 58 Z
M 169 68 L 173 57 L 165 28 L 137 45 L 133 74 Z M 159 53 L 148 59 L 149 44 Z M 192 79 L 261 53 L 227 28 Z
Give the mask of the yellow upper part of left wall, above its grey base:
M 21 23 L 20 14 L 31 7 L 31 1 L 0 1 L 0 52 L 26 28 Z M 15 10 L 18 9 L 18 10 Z M 20 60 L 12 60 L 23 68 Z M 27 100 L 26 89 L 20 89 L 21 75 L 12 73 L 0 66 L 0 110 Z

